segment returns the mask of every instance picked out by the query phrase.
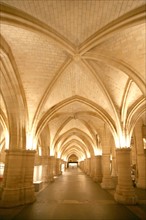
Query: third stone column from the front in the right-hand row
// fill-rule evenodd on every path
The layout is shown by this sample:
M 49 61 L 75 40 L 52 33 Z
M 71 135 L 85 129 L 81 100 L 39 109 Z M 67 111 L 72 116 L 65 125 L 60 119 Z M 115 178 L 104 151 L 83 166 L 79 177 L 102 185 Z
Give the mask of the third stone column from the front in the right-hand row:
M 95 182 L 101 182 L 102 181 L 101 155 L 95 156 L 94 161 L 95 161 L 95 170 L 94 170 L 93 180 Z

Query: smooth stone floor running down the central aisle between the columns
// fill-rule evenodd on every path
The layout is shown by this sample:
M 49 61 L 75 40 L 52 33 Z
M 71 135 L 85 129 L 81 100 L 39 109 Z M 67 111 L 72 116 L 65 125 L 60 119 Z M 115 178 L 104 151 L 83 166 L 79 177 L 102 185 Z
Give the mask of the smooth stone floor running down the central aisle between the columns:
M 146 190 L 136 189 L 136 206 L 117 204 L 114 191 L 101 189 L 79 168 L 63 175 L 36 194 L 35 203 L 0 209 L 0 220 L 136 220 L 146 219 Z

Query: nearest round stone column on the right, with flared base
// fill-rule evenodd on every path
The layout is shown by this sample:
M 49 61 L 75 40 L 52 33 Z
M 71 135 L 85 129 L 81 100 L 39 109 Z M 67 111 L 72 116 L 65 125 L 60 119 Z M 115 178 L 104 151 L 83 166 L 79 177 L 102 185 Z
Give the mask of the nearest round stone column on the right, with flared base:
M 126 205 L 137 203 L 137 197 L 131 179 L 131 149 L 121 148 L 116 150 L 118 166 L 118 185 L 115 192 L 115 200 Z

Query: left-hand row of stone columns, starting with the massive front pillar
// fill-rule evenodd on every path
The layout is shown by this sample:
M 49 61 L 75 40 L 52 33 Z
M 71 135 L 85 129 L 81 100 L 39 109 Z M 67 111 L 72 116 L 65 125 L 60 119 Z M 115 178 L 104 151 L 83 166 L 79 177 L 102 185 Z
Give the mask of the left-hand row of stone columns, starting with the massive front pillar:
M 33 203 L 35 190 L 33 184 L 34 165 L 42 165 L 42 182 L 54 181 L 61 174 L 61 164 L 66 163 L 52 157 L 35 158 L 35 151 L 6 150 L 5 169 L 0 188 L 0 207 L 15 207 Z

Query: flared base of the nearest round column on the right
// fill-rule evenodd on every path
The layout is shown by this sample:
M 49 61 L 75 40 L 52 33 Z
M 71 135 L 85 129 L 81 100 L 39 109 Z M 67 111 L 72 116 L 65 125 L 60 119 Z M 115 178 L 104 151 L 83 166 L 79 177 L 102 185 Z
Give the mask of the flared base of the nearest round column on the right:
M 116 202 L 124 205 L 136 205 L 138 202 L 138 198 L 135 195 L 135 191 L 132 189 L 122 190 L 117 187 L 116 192 L 114 194 L 114 198 Z

